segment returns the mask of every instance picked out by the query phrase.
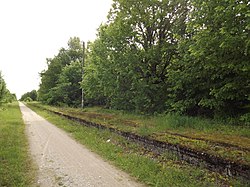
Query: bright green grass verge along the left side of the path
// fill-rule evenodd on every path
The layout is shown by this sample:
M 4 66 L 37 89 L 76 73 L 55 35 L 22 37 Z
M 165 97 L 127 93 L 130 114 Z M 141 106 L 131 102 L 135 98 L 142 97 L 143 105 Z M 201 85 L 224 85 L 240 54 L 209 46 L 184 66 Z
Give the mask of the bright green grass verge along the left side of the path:
M 31 186 L 34 173 L 17 102 L 0 110 L 0 186 Z

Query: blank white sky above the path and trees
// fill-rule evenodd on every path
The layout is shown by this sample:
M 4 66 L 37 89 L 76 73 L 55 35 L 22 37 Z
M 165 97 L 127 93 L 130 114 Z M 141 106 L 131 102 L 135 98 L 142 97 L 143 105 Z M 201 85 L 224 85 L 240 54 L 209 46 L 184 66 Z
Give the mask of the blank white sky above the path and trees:
M 0 71 L 20 98 L 70 37 L 93 41 L 112 0 L 0 0 Z

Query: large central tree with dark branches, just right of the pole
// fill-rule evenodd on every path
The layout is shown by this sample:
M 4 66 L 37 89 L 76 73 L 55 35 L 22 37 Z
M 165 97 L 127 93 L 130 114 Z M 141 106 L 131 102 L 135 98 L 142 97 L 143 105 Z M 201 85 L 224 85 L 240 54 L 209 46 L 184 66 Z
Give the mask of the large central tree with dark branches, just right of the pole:
M 167 67 L 178 43 L 174 35 L 185 33 L 186 9 L 185 1 L 114 1 L 90 47 L 86 97 L 117 109 L 163 111 Z

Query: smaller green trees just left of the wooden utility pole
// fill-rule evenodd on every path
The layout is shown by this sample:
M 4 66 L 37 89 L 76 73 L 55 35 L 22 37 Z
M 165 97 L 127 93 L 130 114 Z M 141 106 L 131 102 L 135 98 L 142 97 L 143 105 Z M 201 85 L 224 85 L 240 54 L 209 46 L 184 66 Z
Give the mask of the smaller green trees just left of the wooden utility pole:
M 40 74 L 39 100 L 52 105 L 78 105 L 81 60 L 80 39 L 70 38 L 67 49 L 62 48 L 54 58 L 47 59 L 48 69 Z

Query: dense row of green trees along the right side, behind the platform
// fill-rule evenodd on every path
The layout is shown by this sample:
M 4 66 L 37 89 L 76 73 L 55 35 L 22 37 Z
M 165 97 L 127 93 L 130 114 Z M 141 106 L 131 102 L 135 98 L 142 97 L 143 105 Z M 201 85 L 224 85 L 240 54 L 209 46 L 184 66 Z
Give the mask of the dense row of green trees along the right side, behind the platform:
M 83 89 L 86 106 L 249 120 L 249 10 L 247 0 L 114 0 L 83 72 L 73 37 L 47 59 L 38 98 L 78 107 Z

